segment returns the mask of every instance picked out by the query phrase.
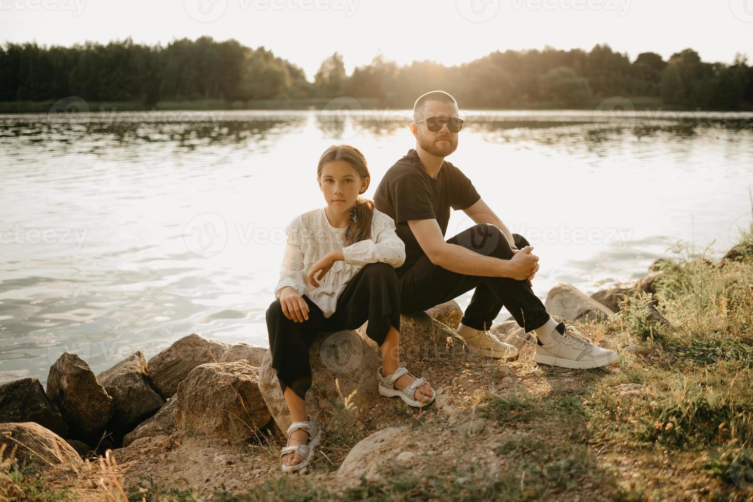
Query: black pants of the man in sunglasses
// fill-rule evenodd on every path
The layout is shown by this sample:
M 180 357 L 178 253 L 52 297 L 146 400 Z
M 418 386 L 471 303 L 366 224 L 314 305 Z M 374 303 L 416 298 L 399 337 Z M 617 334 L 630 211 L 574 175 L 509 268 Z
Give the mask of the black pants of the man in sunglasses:
M 528 240 L 513 234 L 515 246 L 523 249 Z M 495 225 L 480 223 L 447 240 L 475 253 L 509 260 L 513 251 L 505 234 Z M 457 298 L 471 289 L 476 289 L 471 303 L 465 309 L 462 323 L 476 329 L 489 329 L 502 306 L 512 314 L 526 333 L 540 328 L 550 316 L 544 304 L 533 293 L 528 280 L 511 277 L 483 277 L 458 274 L 431 263 L 422 256 L 407 271 L 398 277 L 401 313 L 416 313 Z

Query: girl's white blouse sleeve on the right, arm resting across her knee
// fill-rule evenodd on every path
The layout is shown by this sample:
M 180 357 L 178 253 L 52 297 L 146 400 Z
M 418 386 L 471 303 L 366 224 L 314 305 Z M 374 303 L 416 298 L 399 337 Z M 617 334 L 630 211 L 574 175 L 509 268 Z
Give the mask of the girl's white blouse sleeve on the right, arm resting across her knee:
M 348 265 L 383 262 L 398 268 L 405 262 L 405 243 L 395 233 L 395 222 L 383 213 L 374 212 L 371 239 L 343 247 Z

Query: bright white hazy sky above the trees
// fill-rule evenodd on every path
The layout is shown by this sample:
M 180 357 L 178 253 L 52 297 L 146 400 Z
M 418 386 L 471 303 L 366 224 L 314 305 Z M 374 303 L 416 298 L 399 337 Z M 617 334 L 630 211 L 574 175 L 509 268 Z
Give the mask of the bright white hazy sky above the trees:
M 606 43 L 664 59 L 753 60 L 753 0 L 0 0 L 0 41 L 71 45 L 174 38 L 263 45 L 306 71 L 343 54 L 348 73 L 381 51 L 454 65 L 494 50 Z M 751 64 L 750 62 L 748 64 Z

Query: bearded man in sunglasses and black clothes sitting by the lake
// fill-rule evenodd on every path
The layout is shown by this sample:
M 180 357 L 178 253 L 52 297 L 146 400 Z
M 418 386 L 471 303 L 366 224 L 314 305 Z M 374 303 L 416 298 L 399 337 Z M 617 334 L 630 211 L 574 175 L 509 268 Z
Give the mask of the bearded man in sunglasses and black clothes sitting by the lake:
M 535 331 L 536 362 L 588 368 L 615 361 L 615 352 L 551 318 L 531 289 L 538 271 L 533 247 L 512 234 L 471 180 L 444 160 L 457 149 L 461 127 L 457 103 L 447 92 L 418 98 L 410 123 L 416 148 L 389 168 L 374 194 L 377 209 L 395 219 L 405 243 L 407 258 L 397 269 L 402 313 L 426 310 L 475 288 L 456 331 L 481 354 L 517 354 L 489 331 L 505 306 L 526 332 Z M 450 207 L 477 224 L 445 241 Z

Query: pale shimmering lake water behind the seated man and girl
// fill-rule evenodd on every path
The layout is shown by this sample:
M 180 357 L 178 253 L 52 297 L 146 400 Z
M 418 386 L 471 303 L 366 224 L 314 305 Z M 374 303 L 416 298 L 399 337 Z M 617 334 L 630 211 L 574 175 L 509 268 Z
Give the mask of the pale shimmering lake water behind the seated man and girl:
M 64 351 L 95 373 L 192 332 L 267 346 L 285 226 L 322 207 L 331 144 L 373 195 L 415 146 L 408 110 L 0 115 L 0 383 Z M 540 257 L 592 294 L 678 240 L 721 256 L 751 221 L 753 116 L 473 111 L 448 158 Z M 447 238 L 473 222 L 455 212 Z M 465 307 L 471 294 L 458 298 Z M 508 317 L 503 310 L 498 321 Z

